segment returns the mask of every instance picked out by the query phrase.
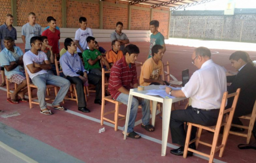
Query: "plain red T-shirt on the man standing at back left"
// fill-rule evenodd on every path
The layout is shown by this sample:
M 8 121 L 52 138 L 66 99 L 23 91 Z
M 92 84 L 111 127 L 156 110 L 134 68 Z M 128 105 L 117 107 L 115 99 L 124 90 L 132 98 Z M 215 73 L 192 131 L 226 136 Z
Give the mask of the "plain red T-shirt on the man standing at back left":
M 58 29 L 55 29 L 55 32 L 52 32 L 50 29 L 44 30 L 42 36 L 48 38 L 49 45 L 53 47 L 53 54 L 60 54 L 60 49 L 58 49 L 58 40 L 61 39 L 61 32 Z

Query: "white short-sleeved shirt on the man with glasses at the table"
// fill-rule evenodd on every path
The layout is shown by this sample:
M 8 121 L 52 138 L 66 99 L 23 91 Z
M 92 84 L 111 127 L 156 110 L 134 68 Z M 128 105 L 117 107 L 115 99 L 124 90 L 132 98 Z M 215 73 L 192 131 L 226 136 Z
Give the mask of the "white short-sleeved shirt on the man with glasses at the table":
M 227 91 L 227 78 L 223 67 L 207 60 L 181 88 L 187 98 L 191 97 L 192 107 L 219 109 L 222 97 Z

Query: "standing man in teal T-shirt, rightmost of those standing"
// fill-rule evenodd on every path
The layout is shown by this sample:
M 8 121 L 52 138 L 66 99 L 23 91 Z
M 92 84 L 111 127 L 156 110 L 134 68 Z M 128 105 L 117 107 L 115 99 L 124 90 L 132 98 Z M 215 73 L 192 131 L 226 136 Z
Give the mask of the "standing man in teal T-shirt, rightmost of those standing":
M 150 32 L 152 33 L 150 35 L 150 50 L 149 55 L 147 58 L 152 57 L 152 47 L 154 45 L 161 45 L 163 46 L 163 53 L 166 51 L 165 43 L 164 43 L 164 36 L 158 31 L 159 28 L 159 21 L 151 21 L 150 22 Z

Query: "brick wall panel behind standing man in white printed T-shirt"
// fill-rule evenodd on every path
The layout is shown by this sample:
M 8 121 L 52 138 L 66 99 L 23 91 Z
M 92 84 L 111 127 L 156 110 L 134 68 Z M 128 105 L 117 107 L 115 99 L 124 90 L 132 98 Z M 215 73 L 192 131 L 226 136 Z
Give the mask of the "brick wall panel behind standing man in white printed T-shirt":
M 67 0 L 67 28 L 79 28 L 79 17 L 87 19 L 87 27 L 100 28 L 99 3 Z

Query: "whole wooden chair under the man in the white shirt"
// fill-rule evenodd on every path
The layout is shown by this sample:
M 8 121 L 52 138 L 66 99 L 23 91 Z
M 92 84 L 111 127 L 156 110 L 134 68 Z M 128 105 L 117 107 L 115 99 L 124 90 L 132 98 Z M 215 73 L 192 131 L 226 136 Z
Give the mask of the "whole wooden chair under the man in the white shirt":
M 223 94 L 220 113 L 219 113 L 219 117 L 218 117 L 218 121 L 217 121 L 216 126 L 208 127 L 208 126 L 202 126 L 202 125 L 198 125 L 198 124 L 188 123 L 188 132 L 186 134 L 186 141 L 185 141 L 185 147 L 184 147 L 184 153 L 183 153 L 184 158 L 186 158 L 186 156 L 188 154 L 188 151 L 192 151 L 192 152 L 195 152 L 196 154 L 208 157 L 209 162 L 213 162 L 214 154 L 218 150 L 220 150 L 219 157 L 222 157 L 223 152 L 224 152 L 224 148 L 226 146 L 226 142 L 227 142 L 227 139 L 228 139 L 229 130 L 230 130 L 230 127 L 231 127 L 231 122 L 232 122 L 232 119 L 233 119 L 235 107 L 237 106 L 237 101 L 238 101 L 240 90 L 241 89 L 239 88 L 239 89 L 237 89 L 237 92 L 235 92 L 233 94 L 229 94 L 229 95 L 228 95 L 227 91 Z M 225 109 L 225 104 L 227 103 L 227 100 L 230 97 L 234 97 L 232 107 L 228 108 L 228 109 Z M 226 121 L 223 122 L 223 116 L 224 116 L 224 114 L 227 114 L 227 113 L 229 113 L 229 118 L 226 119 Z M 198 127 L 199 130 L 198 130 L 198 134 L 197 134 L 196 138 L 190 141 L 192 126 Z M 217 142 L 218 142 L 221 126 L 225 126 L 224 133 L 223 133 L 223 139 L 222 139 L 221 145 L 217 147 Z M 200 140 L 202 129 L 212 131 L 214 133 L 212 144 L 208 144 L 208 143 L 203 142 L 203 141 Z M 204 152 L 200 152 L 200 151 L 197 151 L 195 149 L 189 148 L 189 145 L 192 144 L 193 142 L 195 142 L 196 149 L 198 148 L 198 144 L 202 144 L 202 145 L 211 147 L 210 155 L 205 154 Z

